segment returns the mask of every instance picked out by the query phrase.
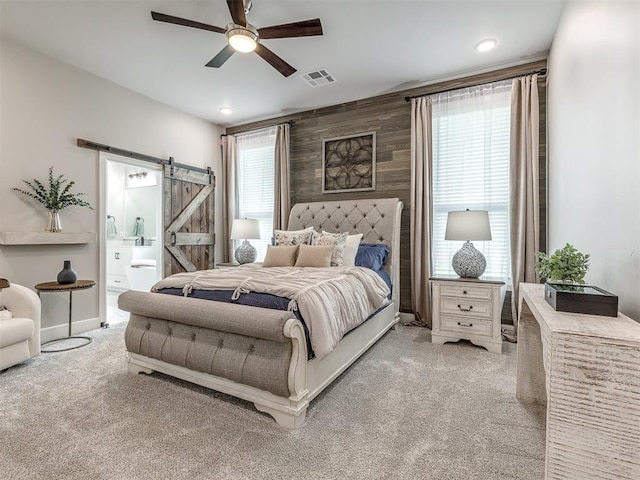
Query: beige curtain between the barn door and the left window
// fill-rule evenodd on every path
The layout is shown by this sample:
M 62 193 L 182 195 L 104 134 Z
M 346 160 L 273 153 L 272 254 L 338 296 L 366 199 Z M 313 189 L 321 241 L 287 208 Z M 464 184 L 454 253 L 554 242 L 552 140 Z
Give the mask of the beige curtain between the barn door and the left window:
M 236 137 L 225 135 L 222 137 L 222 182 L 220 185 L 224 206 L 222 208 L 222 262 L 230 262 L 233 258 L 233 244 L 231 225 L 236 218 L 237 189 L 236 189 Z

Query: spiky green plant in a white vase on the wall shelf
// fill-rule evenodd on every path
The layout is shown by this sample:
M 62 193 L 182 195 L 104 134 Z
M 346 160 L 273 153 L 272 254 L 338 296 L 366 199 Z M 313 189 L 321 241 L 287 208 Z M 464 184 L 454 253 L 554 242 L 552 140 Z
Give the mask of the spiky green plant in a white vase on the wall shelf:
M 35 178 L 31 182 L 28 180 L 22 181 L 29 186 L 31 190 L 22 190 L 20 188 L 13 188 L 13 190 L 27 197 L 31 197 L 44 205 L 47 209 L 47 225 L 45 227 L 45 231 L 47 232 L 62 231 L 60 211 L 71 205 L 88 207 L 93 210 L 89 202 L 81 198 L 85 195 L 84 193 L 71 192 L 76 182 L 65 179 L 64 175 L 54 176 L 53 167 L 49 167 L 48 187 L 45 187 L 42 182 Z

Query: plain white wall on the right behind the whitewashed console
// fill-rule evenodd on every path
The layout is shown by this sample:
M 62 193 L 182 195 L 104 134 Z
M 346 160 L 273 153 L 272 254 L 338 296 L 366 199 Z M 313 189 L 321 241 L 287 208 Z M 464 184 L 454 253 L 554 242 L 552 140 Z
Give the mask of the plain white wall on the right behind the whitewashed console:
M 549 247 L 640 321 L 640 3 L 565 5 L 549 59 Z

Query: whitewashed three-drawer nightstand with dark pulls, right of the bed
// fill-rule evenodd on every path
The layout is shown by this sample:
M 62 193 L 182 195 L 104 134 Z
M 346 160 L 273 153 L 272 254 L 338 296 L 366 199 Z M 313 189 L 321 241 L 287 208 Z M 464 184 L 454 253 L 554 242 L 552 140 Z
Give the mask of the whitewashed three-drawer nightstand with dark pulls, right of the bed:
M 431 342 L 464 339 L 502 353 L 501 289 L 504 282 L 477 278 L 431 277 Z

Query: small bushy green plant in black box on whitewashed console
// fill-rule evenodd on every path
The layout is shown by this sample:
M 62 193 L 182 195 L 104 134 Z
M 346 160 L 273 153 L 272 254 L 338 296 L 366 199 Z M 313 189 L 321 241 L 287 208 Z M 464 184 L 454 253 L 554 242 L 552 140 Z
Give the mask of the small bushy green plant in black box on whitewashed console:
M 590 255 L 579 252 L 567 243 L 551 255 L 538 252 L 536 270 L 548 282 L 584 284 L 584 277 L 589 270 Z

